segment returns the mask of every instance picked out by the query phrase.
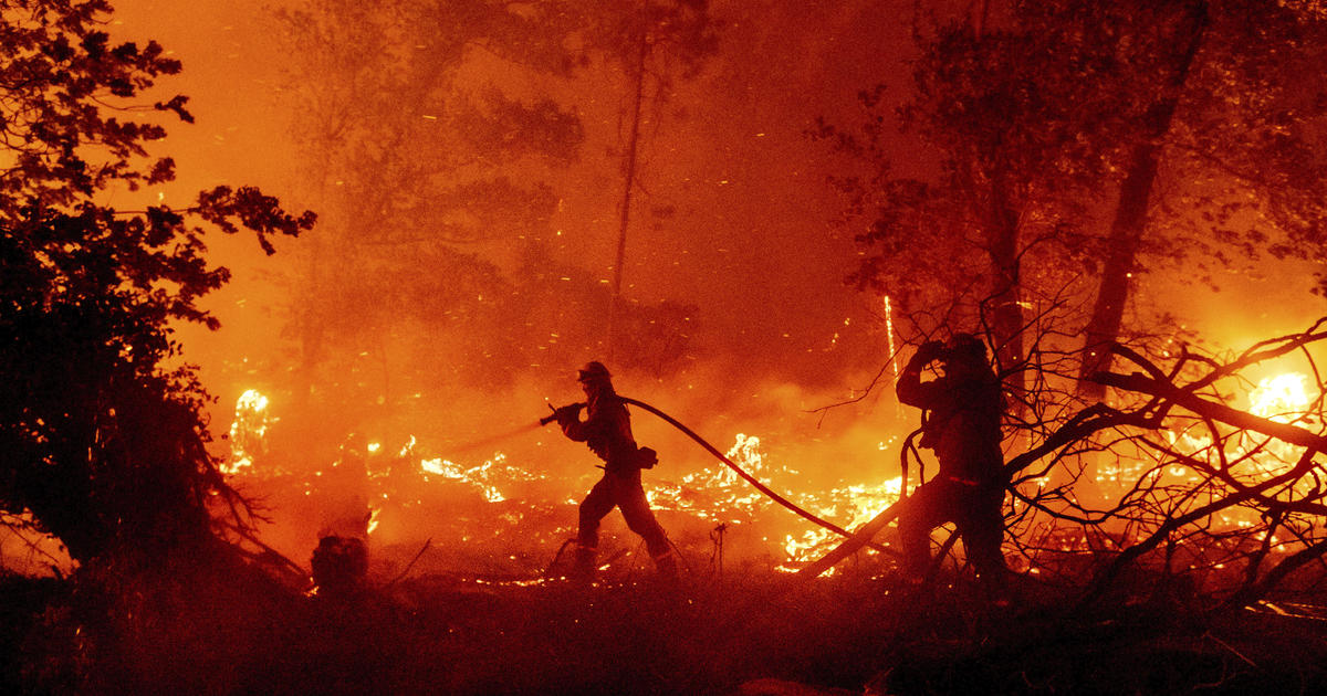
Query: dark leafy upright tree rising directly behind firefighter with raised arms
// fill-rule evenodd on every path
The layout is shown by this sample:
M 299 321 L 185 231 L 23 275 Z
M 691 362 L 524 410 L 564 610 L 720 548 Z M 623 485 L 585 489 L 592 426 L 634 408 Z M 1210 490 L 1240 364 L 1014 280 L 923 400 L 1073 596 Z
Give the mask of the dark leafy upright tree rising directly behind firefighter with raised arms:
M 1089 89 L 1101 66 L 1075 61 L 1064 33 L 993 30 L 963 17 L 917 36 L 913 91 L 897 121 L 877 86 L 860 93 L 860 125 L 813 131 L 867 164 L 832 180 L 843 223 L 865 223 L 865 255 L 849 280 L 890 294 L 913 333 L 985 327 L 1022 399 L 1028 310 L 1078 273 L 1080 221 L 1113 147 L 1100 134 L 1124 115 L 1103 109 Z M 1078 78 L 1051 77 L 1068 70 Z M 930 146 L 934 178 L 896 174 L 900 127 Z

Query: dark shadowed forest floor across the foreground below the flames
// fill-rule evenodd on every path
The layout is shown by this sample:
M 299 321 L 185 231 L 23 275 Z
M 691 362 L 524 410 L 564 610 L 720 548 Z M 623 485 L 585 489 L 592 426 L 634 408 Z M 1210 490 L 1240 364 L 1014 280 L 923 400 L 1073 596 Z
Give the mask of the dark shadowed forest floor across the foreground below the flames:
M 187 577 L 186 577 L 187 575 Z M 259 573 L 4 578 L 12 693 L 1324 693 L 1311 607 L 1089 607 L 845 574 L 596 583 L 422 575 L 330 599 Z

